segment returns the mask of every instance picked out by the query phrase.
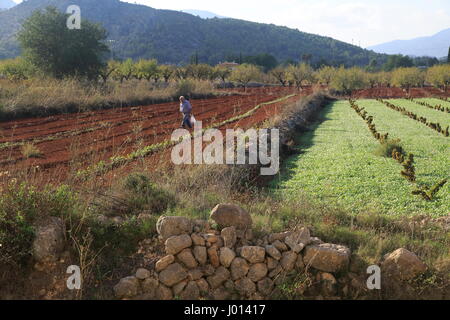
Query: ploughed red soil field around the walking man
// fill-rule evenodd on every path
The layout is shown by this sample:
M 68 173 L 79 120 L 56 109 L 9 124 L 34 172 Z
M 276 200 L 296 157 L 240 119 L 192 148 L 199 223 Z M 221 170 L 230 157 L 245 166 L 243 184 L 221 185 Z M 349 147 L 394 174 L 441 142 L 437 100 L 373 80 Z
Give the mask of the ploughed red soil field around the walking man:
M 292 88 L 247 89 L 245 94 L 192 100 L 197 120 L 203 127 L 246 113 L 256 105 L 292 93 Z M 299 95 L 307 95 L 306 89 Z M 264 106 L 251 117 L 224 128 L 246 129 L 276 115 L 287 101 Z M 163 103 L 135 108 L 120 108 L 63 114 L 45 118 L 21 119 L 0 123 L 0 172 L 10 173 L 36 168 L 52 179 L 66 178 L 73 168 L 107 161 L 112 156 L 130 152 L 170 139 L 181 123 L 178 103 Z M 32 143 L 41 153 L 25 158 L 24 143 Z

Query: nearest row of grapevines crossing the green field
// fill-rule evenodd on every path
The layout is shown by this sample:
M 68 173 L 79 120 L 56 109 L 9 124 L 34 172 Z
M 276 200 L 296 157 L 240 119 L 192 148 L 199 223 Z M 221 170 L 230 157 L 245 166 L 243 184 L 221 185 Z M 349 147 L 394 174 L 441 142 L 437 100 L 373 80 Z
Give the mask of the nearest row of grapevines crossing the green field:
M 367 111 L 364 108 L 361 108 L 357 105 L 355 100 L 350 99 L 350 106 L 352 109 L 356 111 L 356 113 L 366 121 L 367 126 L 374 136 L 381 144 L 388 142 L 389 133 L 382 134 L 377 131 L 375 123 L 373 122 L 373 116 L 369 116 Z M 407 179 L 409 182 L 416 184 L 416 169 L 414 167 L 414 155 L 409 153 L 406 156 L 405 151 L 402 147 L 396 146 L 392 149 L 391 156 L 394 160 L 396 160 L 400 165 L 402 165 L 403 170 L 400 172 L 402 177 Z M 428 186 L 417 186 L 417 189 L 412 192 L 413 195 L 420 195 L 426 201 L 432 201 L 439 190 L 447 183 L 447 179 L 444 179 L 433 187 Z

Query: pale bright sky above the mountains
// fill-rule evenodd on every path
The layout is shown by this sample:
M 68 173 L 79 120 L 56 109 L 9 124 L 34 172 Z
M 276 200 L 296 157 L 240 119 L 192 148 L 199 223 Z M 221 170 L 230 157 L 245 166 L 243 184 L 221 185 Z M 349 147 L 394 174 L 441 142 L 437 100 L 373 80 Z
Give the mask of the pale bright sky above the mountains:
M 15 2 L 21 2 L 15 0 Z M 361 47 L 450 28 L 449 0 L 133 0 L 156 9 L 196 9 L 273 23 Z M 450 39 L 449 39 L 450 40 Z

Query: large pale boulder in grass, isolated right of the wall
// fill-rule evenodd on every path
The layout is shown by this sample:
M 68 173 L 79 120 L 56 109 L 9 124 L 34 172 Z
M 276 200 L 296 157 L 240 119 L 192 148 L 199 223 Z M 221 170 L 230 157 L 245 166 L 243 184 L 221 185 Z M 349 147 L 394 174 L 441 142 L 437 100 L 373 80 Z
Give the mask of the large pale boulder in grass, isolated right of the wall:
M 416 254 L 400 248 L 385 255 L 381 269 L 388 275 L 410 280 L 427 271 L 427 266 Z

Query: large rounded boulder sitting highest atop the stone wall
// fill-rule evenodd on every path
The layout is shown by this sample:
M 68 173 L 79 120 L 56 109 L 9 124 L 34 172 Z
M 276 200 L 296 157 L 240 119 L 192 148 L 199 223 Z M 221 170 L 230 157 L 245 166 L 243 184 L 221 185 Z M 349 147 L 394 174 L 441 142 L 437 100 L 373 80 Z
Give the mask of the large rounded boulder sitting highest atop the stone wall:
M 221 228 L 236 227 L 250 229 L 252 218 L 250 214 L 234 204 L 219 204 L 211 211 L 211 219 Z

